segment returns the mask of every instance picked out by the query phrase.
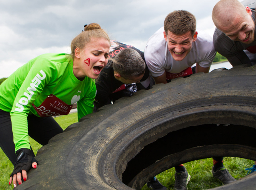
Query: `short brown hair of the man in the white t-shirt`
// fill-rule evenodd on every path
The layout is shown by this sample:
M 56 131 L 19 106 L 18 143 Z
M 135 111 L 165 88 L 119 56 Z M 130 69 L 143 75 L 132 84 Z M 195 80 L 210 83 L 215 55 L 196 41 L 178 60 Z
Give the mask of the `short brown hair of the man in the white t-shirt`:
M 196 32 L 196 17 L 185 10 L 176 10 L 169 13 L 164 20 L 166 35 L 171 31 L 175 35 L 183 35 L 188 31 L 193 36 Z

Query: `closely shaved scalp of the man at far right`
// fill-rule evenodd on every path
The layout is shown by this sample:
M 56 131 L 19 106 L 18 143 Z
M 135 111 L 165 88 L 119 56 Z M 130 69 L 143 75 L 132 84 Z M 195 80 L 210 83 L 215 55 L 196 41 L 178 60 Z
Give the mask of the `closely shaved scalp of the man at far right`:
M 238 0 L 220 0 L 212 10 L 212 21 L 217 28 L 229 25 L 236 16 L 246 16 L 246 9 Z

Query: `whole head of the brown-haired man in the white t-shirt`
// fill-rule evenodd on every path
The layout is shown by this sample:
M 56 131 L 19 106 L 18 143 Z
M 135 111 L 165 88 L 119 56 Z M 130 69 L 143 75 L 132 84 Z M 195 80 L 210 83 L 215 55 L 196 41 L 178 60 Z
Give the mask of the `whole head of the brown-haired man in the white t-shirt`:
M 164 20 L 164 38 L 172 58 L 182 61 L 196 41 L 196 17 L 185 10 L 169 13 Z

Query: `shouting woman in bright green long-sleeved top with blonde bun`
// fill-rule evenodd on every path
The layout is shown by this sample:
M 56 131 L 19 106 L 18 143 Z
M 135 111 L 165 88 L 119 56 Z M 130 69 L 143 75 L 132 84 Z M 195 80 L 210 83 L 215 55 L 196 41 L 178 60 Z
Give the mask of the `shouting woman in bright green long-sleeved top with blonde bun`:
M 78 119 L 92 113 L 94 79 L 107 64 L 109 47 L 100 25 L 85 25 L 70 55 L 40 55 L 0 85 L 0 147 L 14 165 L 9 184 L 17 187 L 37 167 L 28 136 L 45 145 L 63 132 L 51 116 L 67 115 L 76 102 Z

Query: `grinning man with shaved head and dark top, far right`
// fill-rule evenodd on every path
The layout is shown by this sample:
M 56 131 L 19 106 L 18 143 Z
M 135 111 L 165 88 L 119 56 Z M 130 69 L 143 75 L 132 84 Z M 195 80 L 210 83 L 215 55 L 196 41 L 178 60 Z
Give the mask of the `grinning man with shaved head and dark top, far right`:
M 233 65 L 256 64 L 255 9 L 238 0 L 220 0 L 212 10 L 215 50 Z

